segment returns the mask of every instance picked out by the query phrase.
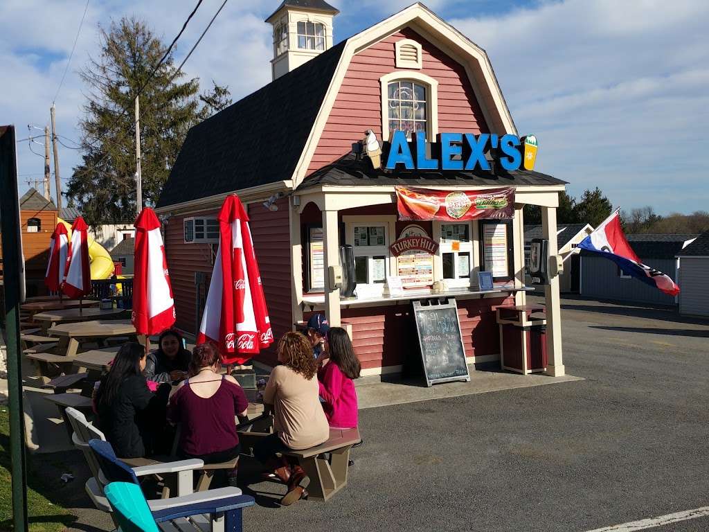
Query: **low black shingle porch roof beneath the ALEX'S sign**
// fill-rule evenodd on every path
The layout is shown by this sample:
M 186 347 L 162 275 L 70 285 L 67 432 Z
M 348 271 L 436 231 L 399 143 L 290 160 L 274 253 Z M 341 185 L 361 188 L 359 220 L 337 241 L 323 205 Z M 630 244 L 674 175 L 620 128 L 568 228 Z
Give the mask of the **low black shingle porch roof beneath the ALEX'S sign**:
M 372 185 L 407 187 L 430 187 L 467 185 L 467 186 L 499 186 L 512 185 L 554 185 L 566 184 L 566 181 L 557 179 L 539 172 L 526 170 L 507 172 L 500 170 L 497 174 L 484 170 L 473 172 L 396 172 L 374 170 L 372 163 L 366 157 L 356 160 L 352 153 L 340 157 L 330 165 L 316 170 L 306 177 L 298 189 L 313 187 L 317 184 L 339 184 L 346 186 L 371 187 Z

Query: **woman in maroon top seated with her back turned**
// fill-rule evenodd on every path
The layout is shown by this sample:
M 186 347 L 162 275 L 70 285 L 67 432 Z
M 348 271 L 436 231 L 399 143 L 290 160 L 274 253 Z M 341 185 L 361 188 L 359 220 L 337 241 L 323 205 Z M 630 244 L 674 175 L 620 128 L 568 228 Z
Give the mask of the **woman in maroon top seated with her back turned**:
M 240 453 L 235 416 L 245 416 L 249 401 L 231 375 L 220 375 L 215 345 L 194 348 L 191 377 L 182 381 L 170 398 L 167 418 L 181 423 L 179 455 L 200 458 L 207 464 L 228 462 Z

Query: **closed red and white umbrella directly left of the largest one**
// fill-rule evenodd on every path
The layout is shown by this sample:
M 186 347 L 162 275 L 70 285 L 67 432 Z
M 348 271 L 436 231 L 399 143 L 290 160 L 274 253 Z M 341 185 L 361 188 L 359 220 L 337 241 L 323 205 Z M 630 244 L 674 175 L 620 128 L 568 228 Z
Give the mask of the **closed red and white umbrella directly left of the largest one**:
M 133 273 L 133 313 L 138 334 L 164 331 L 175 322 L 172 285 L 167 272 L 160 221 L 145 208 L 135 220 L 135 265 Z

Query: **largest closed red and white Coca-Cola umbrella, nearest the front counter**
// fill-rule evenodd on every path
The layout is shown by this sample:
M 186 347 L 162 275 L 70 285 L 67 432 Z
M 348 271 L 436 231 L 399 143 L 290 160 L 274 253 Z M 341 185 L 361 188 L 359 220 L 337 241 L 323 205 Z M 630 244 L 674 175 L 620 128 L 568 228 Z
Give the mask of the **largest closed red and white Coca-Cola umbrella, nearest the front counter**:
M 197 343 L 212 341 L 226 364 L 243 364 L 273 343 L 249 217 L 235 194 L 217 216 L 219 248 Z

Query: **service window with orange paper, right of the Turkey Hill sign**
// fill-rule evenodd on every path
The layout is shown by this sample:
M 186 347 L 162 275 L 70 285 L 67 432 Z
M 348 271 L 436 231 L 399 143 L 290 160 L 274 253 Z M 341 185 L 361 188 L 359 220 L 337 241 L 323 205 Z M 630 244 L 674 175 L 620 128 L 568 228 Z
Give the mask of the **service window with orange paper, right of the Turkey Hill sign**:
M 473 271 L 473 226 L 470 222 L 442 223 L 442 277 L 449 286 L 469 286 Z

